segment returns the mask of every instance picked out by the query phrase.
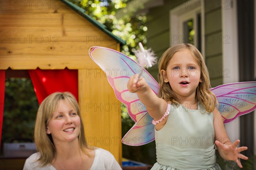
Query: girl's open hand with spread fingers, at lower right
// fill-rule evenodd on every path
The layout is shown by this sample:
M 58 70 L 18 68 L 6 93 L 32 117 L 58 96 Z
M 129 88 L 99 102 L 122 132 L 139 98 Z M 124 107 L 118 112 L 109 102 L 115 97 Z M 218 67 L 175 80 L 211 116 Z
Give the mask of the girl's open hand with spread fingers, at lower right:
M 247 160 L 248 157 L 244 156 L 243 154 L 241 154 L 240 152 L 247 150 L 247 147 L 236 147 L 239 144 L 240 140 L 236 140 L 236 142 L 234 142 L 233 144 L 229 145 L 229 144 L 222 144 L 219 141 L 215 141 L 215 144 L 217 145 L 218 149 L 221 149 L 221 152 L 224 154 L 221 154 L 221 157 L 223 159 L 226 160 L 230 160 L 230 161 L 236 161 L 236 163 L 238 164 L 238 166 L 240 168 L 242 168 L 242 164 L 240 159 L 244 159 Z

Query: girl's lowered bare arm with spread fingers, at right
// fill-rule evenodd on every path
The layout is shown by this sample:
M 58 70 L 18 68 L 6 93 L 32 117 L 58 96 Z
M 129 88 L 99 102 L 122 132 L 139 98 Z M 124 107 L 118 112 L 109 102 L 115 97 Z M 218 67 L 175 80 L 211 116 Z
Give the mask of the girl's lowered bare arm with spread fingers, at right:
M 247 150 L 247 147 L 237 147 L 239 144 L 239 140 L 236 140 L 236 142 L 232 143 L 230 142 L 229 137 L 227 136 L 227 132 L 225 130 L 221 113 L 215 108 L 213 113 L 213 126 L 215 131 L 215 144 L 218 149 L 218 153 L 223 159 L 230 160 L 230 161 L 236 161 L 238 166 L 242 168 L 240 159 L 247 160 L 248 157 L 244 156 L 240 152 Z

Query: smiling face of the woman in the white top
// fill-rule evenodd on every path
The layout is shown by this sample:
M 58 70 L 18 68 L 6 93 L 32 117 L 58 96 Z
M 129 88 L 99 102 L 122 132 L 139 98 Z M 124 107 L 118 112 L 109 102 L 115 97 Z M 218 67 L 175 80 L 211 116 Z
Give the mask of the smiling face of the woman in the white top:
M 59 101 L 57 106 L 47 125 L 47 134 L 52 135 L 55 144 L 78 139 L 81 123 L 76 109 L 65 100 Z

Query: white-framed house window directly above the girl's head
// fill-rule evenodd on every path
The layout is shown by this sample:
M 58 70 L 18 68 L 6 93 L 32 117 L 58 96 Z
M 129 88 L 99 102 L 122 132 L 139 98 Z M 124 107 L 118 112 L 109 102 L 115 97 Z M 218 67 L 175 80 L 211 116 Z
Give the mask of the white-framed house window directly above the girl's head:
M 204 55 L 204 3 L 186 1 L 170 11 L 170 45 L 191 43 Z

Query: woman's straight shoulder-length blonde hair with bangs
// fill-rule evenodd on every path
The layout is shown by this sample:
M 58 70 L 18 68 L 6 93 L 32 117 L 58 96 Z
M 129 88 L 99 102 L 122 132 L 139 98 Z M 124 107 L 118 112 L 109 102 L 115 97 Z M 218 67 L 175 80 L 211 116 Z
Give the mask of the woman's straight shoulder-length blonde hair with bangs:
M 48 135 L 46 133 L 46 130 L 50 119 L 52 119 L 53 112 L 58 109 L 58 102 L 60 102 L 61 100 L 66 101 L 77 111 L 81 123 L 80 134 L 78 136 L 79 147 L 83 153 L 89 155 L 87 153 L 87 148 L 89 147 L 87 146 L 85 140 L 84 125 L 81 121 L 79 105 L 76 101 L 76 98 L 69 92 L 55 92 L 47 96 L 47 98 L 45 98 L 44 101 L 41 103 L 38 108 L 38 113 L 35 121 L 34 140 L 36 148 L 41 155 L 38 159 L 38 161 L 41 163 L 41 166 L 51 164 L 56 156 L 56 148 L 54 142 L 56 143 L 57 140 L 52 139 L 51 134 Z

